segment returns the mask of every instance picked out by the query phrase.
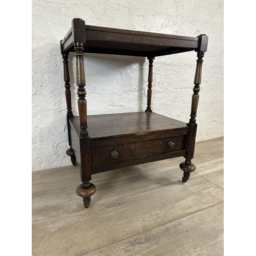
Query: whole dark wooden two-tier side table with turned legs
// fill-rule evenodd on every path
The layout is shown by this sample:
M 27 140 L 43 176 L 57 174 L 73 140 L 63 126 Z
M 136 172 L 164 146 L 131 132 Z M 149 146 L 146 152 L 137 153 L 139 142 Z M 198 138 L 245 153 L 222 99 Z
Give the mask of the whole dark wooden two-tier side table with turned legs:
M 73 165 L 80 165 L 82 184 L 77 194 L 88 208 L 96 187 L 91 175 L 108 170 L 162 159 L 183 156 L 180 164 L 182 181 L 187 182 L 196 166 L 194 157 L 197 107 L 201 84 L 202 64 L 207 50 L 208 36 L 198 37 L 105 28 L 86 25 L 74 18 L 72 27 L 60 41 L 64 67 L 65 94 L 69 146 L 67 154 Z M 188 123 L 152 112 L 151 96 L 153 61 L 157 56 L 197 52 L 191 113 Z M 71 106 L 69 52 L 76 52 L 76 84 L 79 116 L 74 116 Z M 145 112 L 87 115 L 86 80 L 83 53 L 116 54 L 147 57 L 149 62 L 147 106 Z

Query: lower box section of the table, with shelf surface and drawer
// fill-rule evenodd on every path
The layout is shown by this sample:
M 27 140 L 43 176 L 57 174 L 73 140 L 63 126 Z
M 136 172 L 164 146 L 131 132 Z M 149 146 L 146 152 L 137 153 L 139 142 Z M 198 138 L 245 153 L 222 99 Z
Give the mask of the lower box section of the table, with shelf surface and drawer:
M 69 117 L 72 147 L 79 162 L 88 138 L 79 136 L 79 117 Z M 91 173 L 186 155 L 187 123 L 156 113 L 88 116 Z

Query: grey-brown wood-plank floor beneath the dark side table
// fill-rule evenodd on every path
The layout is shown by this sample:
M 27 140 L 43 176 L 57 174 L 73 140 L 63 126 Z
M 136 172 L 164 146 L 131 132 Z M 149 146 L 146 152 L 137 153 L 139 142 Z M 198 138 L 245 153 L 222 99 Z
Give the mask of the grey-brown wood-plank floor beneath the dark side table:
M 32 173 L 32 255 L 223 255 L 223 137 L 196 143 L 189 181 L 162 160 L 92 176 L 90 207 L 78 166 Z

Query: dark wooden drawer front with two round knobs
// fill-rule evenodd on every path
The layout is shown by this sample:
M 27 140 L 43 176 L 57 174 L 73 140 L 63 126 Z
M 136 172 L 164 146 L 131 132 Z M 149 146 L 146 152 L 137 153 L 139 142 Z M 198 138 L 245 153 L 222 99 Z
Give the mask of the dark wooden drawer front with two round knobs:
M 92 167 L 112 164 L 167 152 L 184 150 L 186 136 L 167 137 L 91 149 Z

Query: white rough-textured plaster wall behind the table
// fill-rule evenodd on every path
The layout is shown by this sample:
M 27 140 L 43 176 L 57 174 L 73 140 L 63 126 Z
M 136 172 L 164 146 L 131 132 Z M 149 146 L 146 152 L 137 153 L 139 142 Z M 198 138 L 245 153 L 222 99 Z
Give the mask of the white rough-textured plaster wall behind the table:
M 33 0 L 32 1 L 32 170 L 70 165 L 66 101 L 59 41 L 75 17 L 88 25 L 209 36 L 203 63 L 197 141 L 223 136 L 222 0 Z M 187 122 L 197 56 L 157 57 L 152 109 Z M 77 95 L 74 54 L 69 65 L 74 114 Z M 88 114 L 144 111 L 146 58 L 85 54 Z M 73 66 L 73 67 L 72 67 Z

